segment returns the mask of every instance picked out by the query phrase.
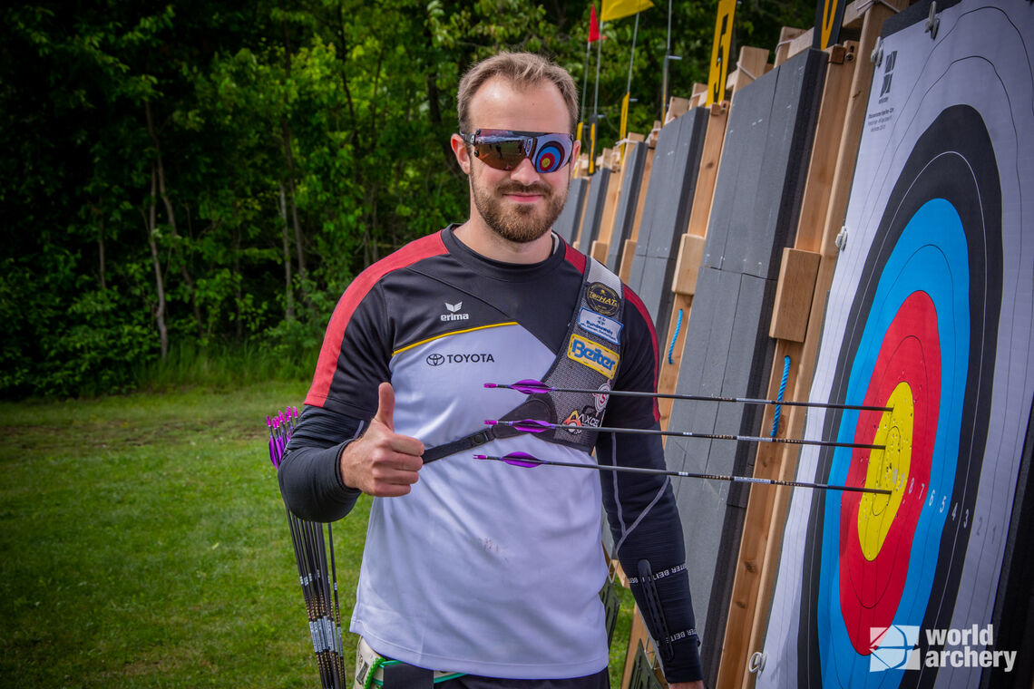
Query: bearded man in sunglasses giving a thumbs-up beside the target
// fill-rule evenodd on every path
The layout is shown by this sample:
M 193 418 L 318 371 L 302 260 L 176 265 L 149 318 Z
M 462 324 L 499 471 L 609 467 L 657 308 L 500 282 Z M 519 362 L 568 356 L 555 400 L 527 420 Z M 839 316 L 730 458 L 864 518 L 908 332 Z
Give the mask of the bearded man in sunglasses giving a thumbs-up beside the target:
M 658 436 L 592 431 L 658 428 L 656 399 L 608 395 L 656 392 L 658 346 L 639 297 L 551 231 L 577 114 L 571 75 L 537 55 L 463 76 L 452 150 L 469 219 L 349 285 L 280 465 L 303 519 L 374 496 L 351 629 L 360 674 L 378 668 L 387 689 L 608 687 L 601 504 L 633 594 L 655 610 L 667 680 L 703 686 L 666 477 L 475 459 L 664 468 Z M 485 386 L 519 379 L 596 392 Z M 523 418 L 560 426 L 485 426 Z

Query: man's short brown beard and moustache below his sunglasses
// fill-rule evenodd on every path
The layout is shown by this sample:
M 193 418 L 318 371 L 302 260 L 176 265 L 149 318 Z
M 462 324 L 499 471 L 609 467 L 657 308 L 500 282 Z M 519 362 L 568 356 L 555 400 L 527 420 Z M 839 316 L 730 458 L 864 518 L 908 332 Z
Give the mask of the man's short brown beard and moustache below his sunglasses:
M 500 196 L 508 193 L 542 194 L 545 207 L 540 208 L 539 203 L 522 205 L 511 201 L 509 208 L 504 208 L 507 201 Z M 475 180 L 473 175 L 470 194 L 485 223 L 503 239 L 518 244 L 534 242 L 548 232 L 559 217 L 564 202 L 568 198 L 567 187 L 557 192 L 543 183 L 524 186 L 516 182 L 507 182 L 493 189 L 482 184 L 480 180 Z

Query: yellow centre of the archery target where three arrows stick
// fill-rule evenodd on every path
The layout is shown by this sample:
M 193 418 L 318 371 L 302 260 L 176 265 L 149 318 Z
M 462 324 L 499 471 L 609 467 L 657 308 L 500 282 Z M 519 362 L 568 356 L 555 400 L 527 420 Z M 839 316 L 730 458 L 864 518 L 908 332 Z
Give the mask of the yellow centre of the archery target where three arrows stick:
M 865 493 L 858 504 L 858 540 L 865 559 L 872 562 L 880 554 L 883 541 L 890 531 L 908 484 L 909 465 L 912 463 L 912 429 L 915 404 L 908 383 L 901 382 L 890 394 L 880 426 L 873 438 L 874 445 L 886 449 L 873 450 L 869 456 L 865 488 L 892 491 L 889 496 Z

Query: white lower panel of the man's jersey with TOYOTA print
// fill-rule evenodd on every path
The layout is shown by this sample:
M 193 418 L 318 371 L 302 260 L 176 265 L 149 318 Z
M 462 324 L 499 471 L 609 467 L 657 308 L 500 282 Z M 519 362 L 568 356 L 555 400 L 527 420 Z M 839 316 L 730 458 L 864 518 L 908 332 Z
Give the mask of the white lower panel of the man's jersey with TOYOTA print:
M 476 432 L 524 399 L 485 382 L 541 378 L 554 357 L 518 325 L 406 348 L 392 359 L 395 430 L 428 446 Z M 594 462 L 534 435 L 477 451 Z M 474 452 L 428 464 L 409 495 L 373 501 L 352 630 L 378 653 L 431 669 L 514 679 L 603 669 L 599 475 Z M 401 526 L 414 524 L 421 528 Z M 510 599 L 494 606 L 500 590 Z

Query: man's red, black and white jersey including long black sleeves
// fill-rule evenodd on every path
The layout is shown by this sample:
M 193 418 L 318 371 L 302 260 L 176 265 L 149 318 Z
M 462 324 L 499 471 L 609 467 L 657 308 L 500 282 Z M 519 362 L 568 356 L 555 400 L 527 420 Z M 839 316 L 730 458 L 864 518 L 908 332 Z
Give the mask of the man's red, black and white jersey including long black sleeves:
M 545 261 L 508 264 L 470 251 L 452 228 L 367 269 L 331 319 L 280 466 L 288 507 L 325 521 L 351 509 L 357 492 L 341 484 L 337 460 L 376 412 L 382 381 L 395 389 L 395 431 L 427 447 L 521 404 L 522 394 L 484 383 L 542 380 L 565 355 L 585 270 L 585 257 L 558 239 Z M 626 289 L 625 299 L 620 323 L 607 331 L 618 340 L 613 388 L 653 392 L 652 324 L 634 293 Z M 599 357 L 591 363 L 606 368 Z M 558 410 L 561 420 L 575 432 L 583 418 L 594 419 L 586 430 L 601 420 L 657 426 L 650 398 L 611 396 L 601 411 L 598 397 Z M 494 439 L 479 451 L 664 466 L 657 436 L 603 434 L 598 458 L 534 434 Z M 666 663 L 669 680 L 698 679 L 674 497 L 665 478 L 642 474 L 519 469 L 469 452 L 425 464 L 408 495 L 373 501 L 352 630 L 378 653 L 431 669 L 515 679 L 600 670 L 607 664 L 601 503 L 629 571 L 645 559 L 669 574 L 657 583 L 666 633 L 679 651 Z

